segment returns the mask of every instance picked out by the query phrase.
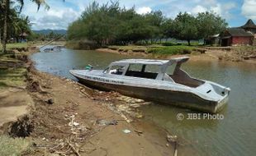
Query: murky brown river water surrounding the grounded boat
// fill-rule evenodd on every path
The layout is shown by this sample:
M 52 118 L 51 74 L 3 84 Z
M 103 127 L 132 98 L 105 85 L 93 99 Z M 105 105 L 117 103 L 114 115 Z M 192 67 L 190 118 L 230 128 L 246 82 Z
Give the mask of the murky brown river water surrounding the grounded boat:
M 35 53 L 31 56 L 36 68 L 57 76 L 74 79 L 69 69 L 105 68 L 115 60 L 130 56 L 63 48 L 56 53 Z M 212 80 L 231 88 L 230 101 L 218 117 L 175 108 L 159 103 L 144 106 L 144 121 L 154 122 L 183 144 L 196 149 L 198 155 L 256 154 L 256 64 L 245 62 L 188 61 L 183 69 L 191 76 Z M 183 114 L 183 120 L 177 116 Z M 199 113 L 199 114 L 198 114 Z M 188 117 L 192 119 L 187 119 Z M 199 118 L 200 117 L 200 118 Z

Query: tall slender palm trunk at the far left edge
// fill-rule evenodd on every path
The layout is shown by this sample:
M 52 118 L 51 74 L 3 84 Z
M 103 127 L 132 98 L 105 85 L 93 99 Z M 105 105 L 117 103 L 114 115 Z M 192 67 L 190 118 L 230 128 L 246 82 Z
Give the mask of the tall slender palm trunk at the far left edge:
M 10 0 L 3 0 L 4 8 L 3 15 L 3 34 L 2 34 L 2 53 L 7 53 L 7 16 L 9 10 Z

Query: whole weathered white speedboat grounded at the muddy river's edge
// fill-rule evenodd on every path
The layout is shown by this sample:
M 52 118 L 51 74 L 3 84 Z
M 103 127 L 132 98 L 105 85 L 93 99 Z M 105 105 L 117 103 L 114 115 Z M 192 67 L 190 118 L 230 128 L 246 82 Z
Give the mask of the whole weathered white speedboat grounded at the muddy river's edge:
M 228 102 L 230 88 L 199 80 L 181 69 L 189 57 L 169 60 L 124 59 L 105 70 L 70 70 L 79 82 L 92 88 L 172 104 L 200 112 L 216 113 Z

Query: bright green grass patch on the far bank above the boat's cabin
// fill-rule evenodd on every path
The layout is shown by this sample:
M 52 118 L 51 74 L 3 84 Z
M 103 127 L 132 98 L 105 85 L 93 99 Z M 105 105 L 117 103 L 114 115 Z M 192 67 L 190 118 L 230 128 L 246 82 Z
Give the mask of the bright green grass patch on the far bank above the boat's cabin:
M 177 55 L 177 54 L 192 53 L 193 49 L 194 47 L 187 46 L 187 45 L 173 45 L 173 46 L 164 46 L 159 48 L 148 48 L 147 53 Z

